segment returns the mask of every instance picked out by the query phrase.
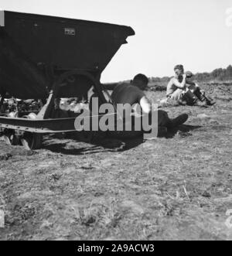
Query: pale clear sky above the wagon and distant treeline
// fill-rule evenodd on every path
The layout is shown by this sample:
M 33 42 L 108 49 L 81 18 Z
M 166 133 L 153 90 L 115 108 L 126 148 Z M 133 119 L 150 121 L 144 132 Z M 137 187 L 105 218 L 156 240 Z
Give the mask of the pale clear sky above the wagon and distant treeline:
M 101 81 L 137 73 L 172 76 L 173 67 L 211 72 L 232 64 L 232 0 L 0 0 L 0 9 L 131 26 Z

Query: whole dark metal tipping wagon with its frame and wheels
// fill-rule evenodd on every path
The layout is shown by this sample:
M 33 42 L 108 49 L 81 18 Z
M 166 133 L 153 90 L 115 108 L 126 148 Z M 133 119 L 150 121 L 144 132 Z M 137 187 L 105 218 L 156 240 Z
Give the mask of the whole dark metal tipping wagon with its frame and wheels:
M 55 99 L 81 98 L 94 87 L 107 102 L 101 73 L 133 35 L 128 26 L 0 11 L 0 107 L 6 93 L 45 103 L 39 113 L 1 114 L 5 141 L 33 149 L 43 134 L 76 131 L 74 117 L 57 118 Z

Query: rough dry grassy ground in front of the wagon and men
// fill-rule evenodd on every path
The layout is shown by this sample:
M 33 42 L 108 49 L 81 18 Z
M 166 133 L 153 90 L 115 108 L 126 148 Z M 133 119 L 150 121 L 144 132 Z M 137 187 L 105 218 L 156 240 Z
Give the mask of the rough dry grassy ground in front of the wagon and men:
M 0 240 L 231 240 L 232 87 L 205 89 L 216 106 L 165 108 L 189 114 L 167 138 L 0 142 Z

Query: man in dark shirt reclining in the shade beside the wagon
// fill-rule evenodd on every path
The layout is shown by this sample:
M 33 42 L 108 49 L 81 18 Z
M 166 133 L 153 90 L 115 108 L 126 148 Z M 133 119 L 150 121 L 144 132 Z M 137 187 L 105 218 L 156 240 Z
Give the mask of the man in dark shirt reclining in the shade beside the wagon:
M 112 84 L 111 84 L 112 85 Z M 130 84 L 114 84 L 114 90 L 111 99 L 114 104 L 139 104 L 144 114 L 150 114 L 152 104 L 148 101 L 143 90 L 148 86 L 148 77 L 138 74 Z M 182 125 L 188 119 L 187 114 L 181 114 L 178 118 L 170 119 L 165 111 L 158 111 L 159 127 L 175 128 Z

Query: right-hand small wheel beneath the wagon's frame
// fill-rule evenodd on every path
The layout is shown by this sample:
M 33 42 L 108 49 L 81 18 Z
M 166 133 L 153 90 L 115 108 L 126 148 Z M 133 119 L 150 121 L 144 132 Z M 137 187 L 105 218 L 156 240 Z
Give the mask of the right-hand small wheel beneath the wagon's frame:
M 38 133 L 26 132 L 21 138 L 22 145 L 26 150 L 41 148 L 43 137 Z

